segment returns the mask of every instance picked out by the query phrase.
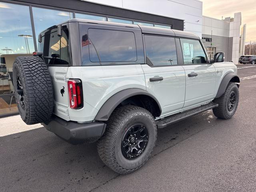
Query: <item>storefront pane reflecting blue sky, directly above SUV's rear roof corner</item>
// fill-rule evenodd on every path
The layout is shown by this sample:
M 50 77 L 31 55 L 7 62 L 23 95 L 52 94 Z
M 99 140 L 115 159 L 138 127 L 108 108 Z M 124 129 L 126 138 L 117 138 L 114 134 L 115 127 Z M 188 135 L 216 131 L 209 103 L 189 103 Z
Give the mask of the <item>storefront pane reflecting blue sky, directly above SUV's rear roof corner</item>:
M 66 11 L 32 7 L 32 12 L 36 32 L 36 42 L 38 42 L 39 33 L 43 30 L 73 18 L 73 13 Z

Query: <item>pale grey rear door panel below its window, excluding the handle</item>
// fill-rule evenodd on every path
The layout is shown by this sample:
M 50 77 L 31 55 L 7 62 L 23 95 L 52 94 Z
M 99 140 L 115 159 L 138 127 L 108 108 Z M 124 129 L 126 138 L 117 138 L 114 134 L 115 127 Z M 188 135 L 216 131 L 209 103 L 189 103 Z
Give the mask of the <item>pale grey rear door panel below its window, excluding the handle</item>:
M 185 72 L 182 66 L 150 67 L 142 65 L 146 79 L 146 90 L 160 103 L 161 116 L 182 109 L 185 99 Z M 150 82 L 150 78 L 163 77 Z

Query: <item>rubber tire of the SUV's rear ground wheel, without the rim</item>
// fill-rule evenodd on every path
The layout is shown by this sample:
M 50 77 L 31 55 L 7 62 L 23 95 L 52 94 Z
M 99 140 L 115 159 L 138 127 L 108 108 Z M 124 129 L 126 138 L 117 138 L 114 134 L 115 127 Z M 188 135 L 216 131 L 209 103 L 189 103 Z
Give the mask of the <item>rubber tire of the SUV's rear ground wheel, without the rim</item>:
M 135 159 L 122 154 L 121 144 L 126 130 L 136 123 L 143 123 L 148 130 L 148 144 L 143 153 Z M 97 142 L 101 160 L 119 174 L 129 174 L 139 169 L 150 157 L 156 144 L 157 128 L 152 114 L 138 106 L 126 105 L 114 110 L 107 121 L 106 131 Z

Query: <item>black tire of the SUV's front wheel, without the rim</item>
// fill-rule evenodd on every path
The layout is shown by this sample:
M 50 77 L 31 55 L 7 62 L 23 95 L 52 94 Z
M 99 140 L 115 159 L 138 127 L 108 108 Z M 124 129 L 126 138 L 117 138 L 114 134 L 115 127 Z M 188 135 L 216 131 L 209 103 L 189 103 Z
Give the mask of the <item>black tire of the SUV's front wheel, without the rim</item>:
M 232 92 L 234 92 L 234 94 L 236 96 L 236 102 L 234 104 L 234 108 L 231 111 L 229 111 L 228 110 L 228 100 L 229 100 L 230 94 Z M 238 86 L 236 85 L 236 83 L 229 82 L 225 93 L 220 98 L 214 99 L 213 102 L 219 104 L 218 107 L 212 109 L 213 114 L 216 117 L 222 118 L 222 119 L 231 118 L 235 114 L 236 109 L 238 107 L 238 102 L 239 102 L 239 90 L 238 90 Z

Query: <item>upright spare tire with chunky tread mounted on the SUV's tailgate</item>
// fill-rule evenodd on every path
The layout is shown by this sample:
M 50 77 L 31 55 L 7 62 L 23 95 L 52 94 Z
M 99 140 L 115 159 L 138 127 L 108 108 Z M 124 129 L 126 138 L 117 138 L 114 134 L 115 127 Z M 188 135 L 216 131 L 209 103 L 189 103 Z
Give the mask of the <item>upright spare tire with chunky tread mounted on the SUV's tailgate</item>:
M 42 58 L 17 57 L 13 64 L 13 86 L 20 116 L 26 124 L 50 120 L 54 96 L 50 74 Z

